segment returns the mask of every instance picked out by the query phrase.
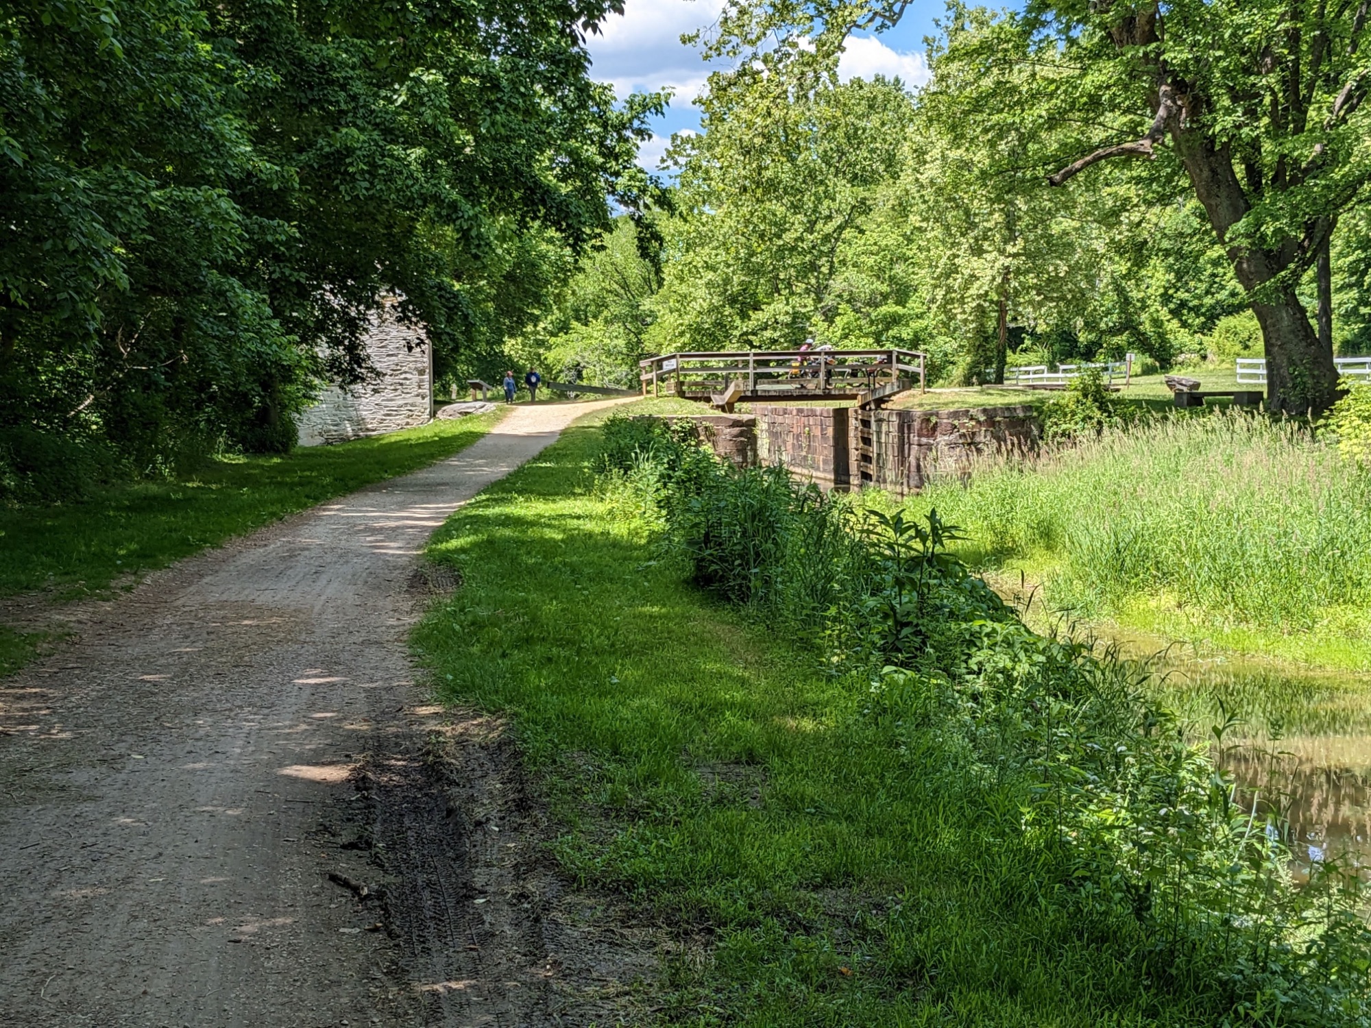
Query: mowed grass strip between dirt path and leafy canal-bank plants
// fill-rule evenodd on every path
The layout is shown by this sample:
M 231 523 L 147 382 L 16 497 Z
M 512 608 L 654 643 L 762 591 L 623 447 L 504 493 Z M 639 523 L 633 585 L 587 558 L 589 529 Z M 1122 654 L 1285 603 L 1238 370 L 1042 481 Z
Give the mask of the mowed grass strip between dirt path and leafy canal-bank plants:
M 677 944 L 644 1007 L 690 1025 L 1204 1023 L 1185 988 L 1156 988 L 1145 939 L 1046 901 L 1039 854 L 1002 831 L 1013 811 L 950 780 L 936 739 L 873 726 L 866 683 L 658 561 L 596 495 L 596 436 L 568 430 L 440 529 L 429 554 L 463 587 L 414 643 L 440 696 L 510 718 L 566 873 Z

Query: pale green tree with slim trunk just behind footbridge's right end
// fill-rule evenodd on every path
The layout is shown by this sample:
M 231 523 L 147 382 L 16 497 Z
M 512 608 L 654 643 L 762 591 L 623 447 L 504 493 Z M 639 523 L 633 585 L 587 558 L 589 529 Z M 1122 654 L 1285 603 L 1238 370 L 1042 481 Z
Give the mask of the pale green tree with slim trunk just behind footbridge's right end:
M 951 4 L 942 27 L 902 180 L 910 243 L 947 330 L 990 341 L 969 347 L 964 376 L 1002 382 L 1013 322 L 1075 328 L 1091 303 L 1119 203 L 1045 188 L 1035 151 L 1060 127 L 1041 112 L 1064 70 L 1052 55 L 1016 59 L 1021 23 Z

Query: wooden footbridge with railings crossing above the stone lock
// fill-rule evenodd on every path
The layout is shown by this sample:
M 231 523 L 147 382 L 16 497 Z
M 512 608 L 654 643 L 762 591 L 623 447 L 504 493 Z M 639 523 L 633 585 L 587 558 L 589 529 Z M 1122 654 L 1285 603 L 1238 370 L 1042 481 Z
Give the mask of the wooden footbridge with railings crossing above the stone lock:
M 857 400 L 877 406 L 925 388 L 917 350 L 732 350 L 662 354 L 640 360 L 643 396 L 701 400 L 731 411 L 735 403 Z

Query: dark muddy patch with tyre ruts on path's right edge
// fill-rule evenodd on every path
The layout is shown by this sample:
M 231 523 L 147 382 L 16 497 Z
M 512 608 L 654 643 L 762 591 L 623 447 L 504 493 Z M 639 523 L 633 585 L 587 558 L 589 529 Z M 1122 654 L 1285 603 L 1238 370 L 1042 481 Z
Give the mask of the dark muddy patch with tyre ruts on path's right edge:
M 387 931 L 429 1023 L 650 1020 L 665 936 L 559 873 L 505 726 L 414 707 L 392 728 L 354 776 L 370 811 L 355 844 L 372 851 Z

